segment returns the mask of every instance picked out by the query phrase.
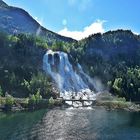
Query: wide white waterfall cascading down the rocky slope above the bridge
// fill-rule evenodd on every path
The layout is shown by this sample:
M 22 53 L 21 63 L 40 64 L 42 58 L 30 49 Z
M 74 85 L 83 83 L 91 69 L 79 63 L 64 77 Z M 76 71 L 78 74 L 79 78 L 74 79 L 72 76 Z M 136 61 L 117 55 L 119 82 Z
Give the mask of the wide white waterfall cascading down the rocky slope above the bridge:
M 80 64 L 78 64 L 77 71 L 74 71 L 66 53 L 48 50 L 43 58 L 43 70 L 56 82 L 61 97 L 95 99 L 94 92 L 90 90 L 88 83 L 84 80 L 89 77 L 86 77 Z

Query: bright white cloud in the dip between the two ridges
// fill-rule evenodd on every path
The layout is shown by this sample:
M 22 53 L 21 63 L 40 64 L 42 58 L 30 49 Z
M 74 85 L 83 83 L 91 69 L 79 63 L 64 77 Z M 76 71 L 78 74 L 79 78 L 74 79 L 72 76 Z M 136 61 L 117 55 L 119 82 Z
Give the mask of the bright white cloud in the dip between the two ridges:
M 93 22 L 91 25 L 85 27 L 83 29 L 83 31 L 70 31 L 70 30 L 68 30 L 67 27 L 65 27 L 64 29 L 59 31 L 58 34 L 67 36 L 67 37 L 71 37 L 76 40 L 81 40 L 85 37 L 88 37 L 91 34 L 105 32 L 105 30 L 103 28 L 104 22 L 106 22 L 106 21 L 97 20 L 97 21 Z

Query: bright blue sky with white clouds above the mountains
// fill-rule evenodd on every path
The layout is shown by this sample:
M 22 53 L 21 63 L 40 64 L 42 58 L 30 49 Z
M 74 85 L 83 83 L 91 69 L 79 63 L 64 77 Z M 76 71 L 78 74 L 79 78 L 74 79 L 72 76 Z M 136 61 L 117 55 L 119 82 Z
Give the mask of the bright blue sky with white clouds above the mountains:
M 4 0 L 44 27 L 76 39 L 115 29 L 140 33 L 140 0 Z

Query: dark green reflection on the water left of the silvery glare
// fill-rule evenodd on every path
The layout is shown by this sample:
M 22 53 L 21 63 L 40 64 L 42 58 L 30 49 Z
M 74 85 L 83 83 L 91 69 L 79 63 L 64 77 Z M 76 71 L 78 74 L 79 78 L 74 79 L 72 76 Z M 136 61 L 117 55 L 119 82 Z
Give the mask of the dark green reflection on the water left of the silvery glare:
M 39 123 L 46 111 L 0 113 L 0 140 L 27 140 L 30 130 Z

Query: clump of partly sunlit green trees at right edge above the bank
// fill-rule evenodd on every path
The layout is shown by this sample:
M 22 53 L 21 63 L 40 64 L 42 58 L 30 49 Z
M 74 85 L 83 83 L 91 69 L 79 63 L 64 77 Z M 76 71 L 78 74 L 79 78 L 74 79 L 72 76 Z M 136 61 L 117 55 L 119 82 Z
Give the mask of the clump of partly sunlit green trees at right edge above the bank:
M 109 81 L 110 91 L 115 95 L 125 97 L 127 100 L 140 100 L 140 67 L 127 68 L 125 72 L 116 71 L 116 77 L 121 75 L 121 78 L 114 78 Z

